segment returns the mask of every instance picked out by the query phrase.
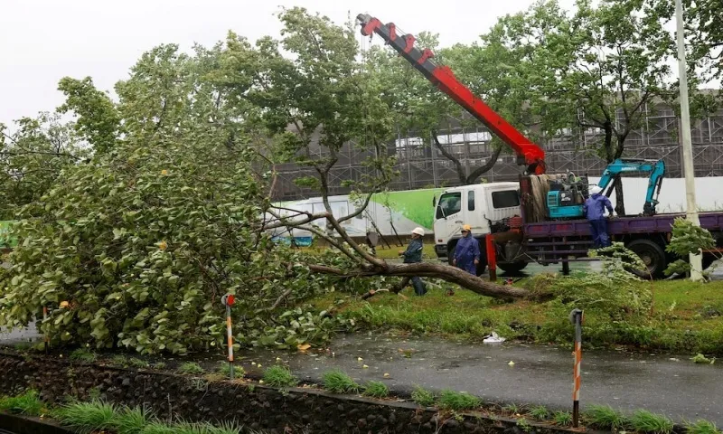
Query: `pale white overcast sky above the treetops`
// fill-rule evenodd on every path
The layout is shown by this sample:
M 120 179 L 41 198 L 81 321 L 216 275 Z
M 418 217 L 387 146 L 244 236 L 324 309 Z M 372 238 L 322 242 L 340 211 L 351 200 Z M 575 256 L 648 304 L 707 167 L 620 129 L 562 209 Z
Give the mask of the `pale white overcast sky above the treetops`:
M 251 40 L 278 35 L 280 6 L 305 6 L 343 23 L 367 13 L 443 45 L 473 42 L 499 16 L 533 0 L 0 0 L 0 122 L 62 103 L 64 76 L 91 76 L 101 90 L 127 77 L 141 53 L 174 42 L 211 45 L 229 30 Z M 561 0 L 572 5 L 573 0 Z M 360 35 L 361 38 L 361 35 Z

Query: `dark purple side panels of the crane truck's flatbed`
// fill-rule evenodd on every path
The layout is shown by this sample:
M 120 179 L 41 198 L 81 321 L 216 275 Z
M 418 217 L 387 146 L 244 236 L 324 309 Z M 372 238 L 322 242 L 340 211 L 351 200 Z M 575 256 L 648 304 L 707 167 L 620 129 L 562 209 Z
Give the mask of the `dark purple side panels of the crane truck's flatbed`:
M 723 231 L 723 212 L 700 212 L 698 215 L 700 227 L 708 231 Z M 607 221 L 607 231 L 610 235 L 670 232 L 672 222 L 679 217 L 685 218 L 685 214 L 618 217 Z M 587 220 L 525 223 L 524 234 L 527 239 L 584 237 L 590 235 L 590 225 Z

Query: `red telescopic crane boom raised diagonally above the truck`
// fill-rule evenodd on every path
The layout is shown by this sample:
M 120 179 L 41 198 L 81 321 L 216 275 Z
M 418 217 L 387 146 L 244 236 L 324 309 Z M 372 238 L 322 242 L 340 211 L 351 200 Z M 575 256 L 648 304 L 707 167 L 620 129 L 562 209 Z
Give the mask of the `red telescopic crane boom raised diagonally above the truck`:
M 512 147 L 517 154 L 517 163 L 527 165 L 527 173 L 541 175 L 545 173 L 545 151 L 531 142 L 520 131 L 504 120 L 496 111 L 484 103 L 482 99 L 474 96 L 472 90 L 462 84 L 448 66 L 437 65 L 432 58 L 434 53 L 425 48 L 419 51 L 414 46 L 415 37 L 411 34 L 397 34 L 397 27 L 393 24 L 381 24 L 377 18 L 369 14 L 359 14 L 357 21 L 362 25 L 362 34 L 370 36 L 377 33 L 385 42 L 399 52 L 399 54 L 412 64 L 422 75 L 445 92 L 457 104 L 467 110 L 490 129 L 497 137 Z

